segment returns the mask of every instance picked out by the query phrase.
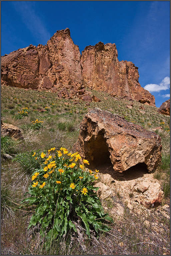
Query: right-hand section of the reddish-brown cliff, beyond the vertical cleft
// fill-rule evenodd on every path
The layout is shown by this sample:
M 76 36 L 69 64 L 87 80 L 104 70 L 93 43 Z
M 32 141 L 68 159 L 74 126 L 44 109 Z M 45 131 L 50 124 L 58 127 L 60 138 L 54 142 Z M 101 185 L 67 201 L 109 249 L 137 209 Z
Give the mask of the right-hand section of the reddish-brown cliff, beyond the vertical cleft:
M 82 51 L 84 86 L 155 106 L 155 98 L 138 82 L 138 68 L 130 61 L 118 60 L 115 43 L 99 42 Z

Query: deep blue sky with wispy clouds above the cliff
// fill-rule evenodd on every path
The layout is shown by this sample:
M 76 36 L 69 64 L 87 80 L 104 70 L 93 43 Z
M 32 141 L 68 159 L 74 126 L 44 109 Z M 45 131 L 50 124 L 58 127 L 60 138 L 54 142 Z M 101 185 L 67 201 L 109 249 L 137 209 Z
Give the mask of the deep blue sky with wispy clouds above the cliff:
M 170 98 L 170 1 L 1 1 L 1 55 L 45 45 L 67 27 L 80 52 L 115 43 L 119 61 L 139 68 L 156 107 Z

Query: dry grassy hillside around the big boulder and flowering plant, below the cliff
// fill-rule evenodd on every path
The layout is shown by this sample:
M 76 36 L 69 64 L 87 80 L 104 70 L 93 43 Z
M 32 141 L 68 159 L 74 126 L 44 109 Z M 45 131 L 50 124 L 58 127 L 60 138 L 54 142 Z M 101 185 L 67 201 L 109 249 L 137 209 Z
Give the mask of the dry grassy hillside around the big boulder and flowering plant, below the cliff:
M 169 204 L 170 117 L 159 114 L 156 107 L 114 98 L 104 92 L 91 90 L 91 93 L 101 102 L 90 102 L 87 106 L 78 98 L 59 99 L 56 93 L 48 91 L 1 87 L 1 120 L 17 126 L 24 137 L 20 141 L 8 137 L 1 139 L 2 255 L 104 255 L 106 252 L 110 255 L 169 255 L 169 220 L 158 213 L 157 208 L 150 210 L 149 221 L 161 224 L 158 231 L 154 231 L 153 226 L 146 229 L 141 216 L 132 215 L 125 207 L 123 219 L 114 220 L 111 232 L 101 234 L 99 240 L 84 237 L 83 243 L 79 237 L 69 236 L 66 241 L 53 244 L 50 251 L 43 248 L 36 232 L 38 228 L 27 231 L 32 214 L 27 209 L 15 211 L 28 191 L 30 175 L 37 168 L 33 152 L 41 153 L 53 147 L 57 150 L 65 147 L 71 151 L 84 115 L 95 107 L 119 114 L 161 136 L 162 163 L 153 175 L 164 190 L 163 205 Z M 131 104 L 132 108 L 127 108 Z M 155 129 L 157 127 L 162 129 Z M 80 239 L 83 239 L 81 235 Z M 82 248 L 81 253 L 78 245 Z

